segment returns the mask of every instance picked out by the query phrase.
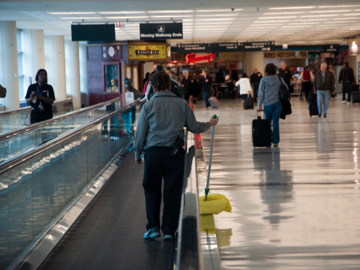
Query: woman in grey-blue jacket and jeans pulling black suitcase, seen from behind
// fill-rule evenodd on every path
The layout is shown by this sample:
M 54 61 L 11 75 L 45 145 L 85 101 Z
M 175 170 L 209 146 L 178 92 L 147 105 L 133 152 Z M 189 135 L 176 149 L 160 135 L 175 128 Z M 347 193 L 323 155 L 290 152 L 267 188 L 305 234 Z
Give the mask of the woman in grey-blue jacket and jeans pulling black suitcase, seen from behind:
M 259 85 L 259 112 L 265 112 L 265 119 L 273 121 L 273 146 L 277 147 L 280 142 L 279 119 L 282 110 L 280 100 L 280 80 L 286 85 L 284 80 L 276 75 L 276 67 L 269 63 L 265 67 L 266 77 L 262 78 Z M 286 88 L 289 89 L 286 85 Z M 264 105 L 264 109 L 262 109 Z

